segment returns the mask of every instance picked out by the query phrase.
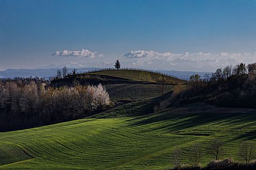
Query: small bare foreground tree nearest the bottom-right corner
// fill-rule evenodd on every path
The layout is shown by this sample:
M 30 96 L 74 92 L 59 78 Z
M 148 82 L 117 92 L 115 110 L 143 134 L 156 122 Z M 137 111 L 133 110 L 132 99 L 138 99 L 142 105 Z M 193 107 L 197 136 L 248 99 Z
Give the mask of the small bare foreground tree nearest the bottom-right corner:
M 239 156 L 246 164 L 249 164 L 255 158 L 255 146 L 249 142 L 242 143 L 239 149 Z

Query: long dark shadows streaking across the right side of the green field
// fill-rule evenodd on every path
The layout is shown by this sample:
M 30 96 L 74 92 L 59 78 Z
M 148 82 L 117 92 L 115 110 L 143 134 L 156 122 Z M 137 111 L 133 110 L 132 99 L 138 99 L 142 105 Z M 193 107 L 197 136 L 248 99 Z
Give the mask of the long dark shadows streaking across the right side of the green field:
M 198 112 L 196 113 L 195 111 L 189 112 L 188 110 L 191 109 L 186 109 L 186 111 L 180 111 L 179 109 L 170 109 L 165 113 L 145 115 L 128 121 L 133 122 L 131 126 L 141 126 L 150 124 L 153 125 L 157 123 L 157 126 L 151 126 L 151 128 L 145 130 L 145 132 L 161 129 L 167 130 L 167 132 L 175 132 L 178 130 L 196 128 L 202 125 L 210 124 L 228 124 L 231 128 L 232 125 L 240 125 L 240 128 L 246 128 L 252 127 L 252 124 L 256 122 L 255 111 L 250 111 L 248 113 L 207 113 L 206 110 L 201 112 L 198 109 Z M 234 129 L 236 129 L 235 126 Z M 239 128 L 237 128 L 236 130 L 239 130 Z M 256 130 L 253 132 L 250 131 L 246 134 L 243 134 L 241 138 L 242 137 L 248 137 L 252 139 L 256 138 Z

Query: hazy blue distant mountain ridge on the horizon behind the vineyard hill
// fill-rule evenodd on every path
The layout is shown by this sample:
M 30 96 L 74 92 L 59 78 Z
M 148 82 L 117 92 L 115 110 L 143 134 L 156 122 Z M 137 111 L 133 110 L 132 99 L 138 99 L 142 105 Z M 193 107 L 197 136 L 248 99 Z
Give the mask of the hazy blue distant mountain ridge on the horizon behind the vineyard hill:
M 83 67 L 83 68 L 77 68 L 77 67 L 71 67 L 74 65 L 51 65 L 54 68 L 41 68 L 41 69 L 7 69 L 4 71 L 0 71 L 0 77 L 6 78 L 6 77 L 45 77 L 48 79 L 49 77 L 55 76 L 57 73 L 57 70 L 61 70 L 63 66 L 68 67 L 68 71 L 71 72 L 74 68 L 76 68 L 77 72 L 85 72 L 85 71 L 92 71 L 97 70 L 99 67 Z M 196 71 L 167 71 L 167 70 L 156 70 L 159 72 L 162 72 L 164 74 L 173 75 L 182 79 L 189 79 L 189 76 L 198 74 L 203 77 L 204 74 L 209 72 L 196 72 Z

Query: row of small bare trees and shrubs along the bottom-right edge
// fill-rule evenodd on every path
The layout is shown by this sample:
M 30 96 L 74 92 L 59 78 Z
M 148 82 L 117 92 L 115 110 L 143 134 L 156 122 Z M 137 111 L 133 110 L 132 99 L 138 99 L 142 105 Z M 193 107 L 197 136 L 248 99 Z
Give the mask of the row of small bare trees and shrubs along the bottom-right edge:
M 171 162 L 174 169 L 254 169 L 256 168 L 256 148 L 252 142 L 245 141 L 241 143 L 237 156 L 239 162 L 235 162 L 233 158 L 221 159 L 224 156 L 225 142 L 221 139 L 213 139 L 209 142 L 208 147 L 203 148 L 202 144 L 194 144 L 189 150 L 176 148 L 171 153 Z M 190 163 L 183 164 L 182 158 L 185 156 Z M 214 158 L 202 167 L 201 161 L 203 156 L 211 156 Z

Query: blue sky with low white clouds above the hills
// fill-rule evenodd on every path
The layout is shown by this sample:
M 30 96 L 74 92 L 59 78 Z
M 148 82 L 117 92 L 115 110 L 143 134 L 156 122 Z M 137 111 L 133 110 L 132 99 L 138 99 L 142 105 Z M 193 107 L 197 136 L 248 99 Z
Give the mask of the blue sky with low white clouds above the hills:
M 0 70 L 256 62 L 256 1 L 0 1 Z

